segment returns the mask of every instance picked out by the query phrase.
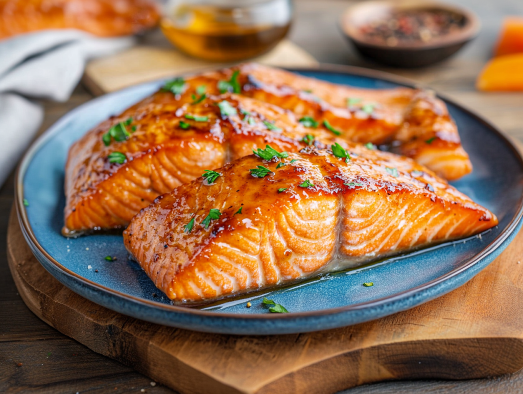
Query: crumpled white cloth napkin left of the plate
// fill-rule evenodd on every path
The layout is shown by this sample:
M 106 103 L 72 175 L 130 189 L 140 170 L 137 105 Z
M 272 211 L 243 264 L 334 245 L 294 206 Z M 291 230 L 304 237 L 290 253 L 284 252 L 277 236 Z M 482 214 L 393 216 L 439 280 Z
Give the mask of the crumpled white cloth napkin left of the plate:
M 133 37 L 97 38 L 78 30 L 44 30 L 0 41 L 0 186 L 42 123 L 43 109 L 30 98 L 66 101 L 87 60 L 133 43 Z

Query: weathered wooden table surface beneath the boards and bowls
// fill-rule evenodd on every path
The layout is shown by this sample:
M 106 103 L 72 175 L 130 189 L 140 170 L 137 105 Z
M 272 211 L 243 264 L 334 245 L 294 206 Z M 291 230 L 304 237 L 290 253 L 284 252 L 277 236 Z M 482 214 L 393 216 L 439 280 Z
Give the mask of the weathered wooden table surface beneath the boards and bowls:
M 450 1 L 450 0 L 449 0 Z M 490 57 L 501 21 L 506 15 L 523 16 L 521 0 L 454 0 L 473 9 L 482 20 L 479 37 L 456 57 L 418 70 L 385 69 L 363 61 L 340 35 L 336 21 L 353 2 L 297 0 L 290 38 L 320 62 L 372 67 L 412 78 L 433 87 L 478 112 L 509 136 L 523 142 L 523 93 L 478 93 L 474 81 Z M 158 31 L 143 43 L 168 47 Z M 67 103 L 43 102 L 46 117 L 40 132 L 65 112 L 92 96 L 78 86 Z M 0 189 L 0 392 L 41 393 L 172 393 L 143 375 L 90 351 L 36 318 L 17 294 L 7 267 L 6 230 L 13 204 L 13 176 Z M 523 370 L 510 376 L 465 381 L 383 382 L 344 391 L 362 393 L 520 393 Z

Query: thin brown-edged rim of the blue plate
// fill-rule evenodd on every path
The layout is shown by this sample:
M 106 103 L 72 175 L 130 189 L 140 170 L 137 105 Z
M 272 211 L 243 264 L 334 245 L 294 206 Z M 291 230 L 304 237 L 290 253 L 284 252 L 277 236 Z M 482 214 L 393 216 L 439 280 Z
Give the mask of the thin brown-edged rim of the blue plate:
M 213 67 L 212 69 L 220 69 L 222 67 Z M 285 68 L 285 70 L 291 71 L 291 72 L 323 72 L 323 73 L 332 73 L 332 74 L 345 74 L 345 75 L 353 75 L 353 76 L 362 76 L 362 77 L 368 77 L 373 78 L 376 80 L 384 81 L 393 83 L 396 85 L 404 86 L 404 87 L 410 87 L 410 88 L 425 88 L 430 89 L 431 91 L 434 91 L 434 89 L 431 89 L 429 87 L 424 86 L 422 83 L 417 83 L 413 80 L 410 80 L 409 78 L 397 76 L 391 73 L 378 71 L 378 70 L 372 70 L 367 69 L 364 67 L 358 67 L 358 66 L 350 66 L 350 65 L 340 65 L 340 64 L 327 64 L 322 63 L 315 67 L 282 67 Z M 206 70 L 212 70 L 212 69 L 206 69 Z M 194 73 L 178 73 L 175 74 L 177 76 L 185 76 L 185 75 L 192 75 Z M 88 100 L 87 102 L 79 105 L 78 107 L 72 109 L 69 112 L 66 112 L 58 121 L 54 122 L 46 131 L 44 131 L 41 136 L 39 136 L 35 141 L 33 141 L 29 147 L 29 149 L 26 151 L 24 156 L 22 157 L 22 160 L 20 161 L 20 164 L 17 167 L 17 171 L 15 174 L 15 208 L 17 212 L 18 222 L 20 223 L 20 227 L 22 230 L 22 233 L 24 234 L 26 241 L 32 244 L 33 247 L 36 247 L 36 249 L 42 254 L 43 257 L 46 258 L 46 260 L 54 265 L 54 268 L 61 271 L 62 274 L 65 274 L 66 276 L 69 276 L 73 278 L 74 280 L 80 282 L 82 285 L 87 286 L 89 288 L 94 288 L 98 291 L 103 291 L 107 294 L 109 294 L 112 297 L 117 297 L 119 299 L 123 299 L 125 301 L 131 301 L 136 304 L 140 304 L 143 306 L 151 307 L 153 309 L 160 309 L 162 311 L 167 312 L 176 312 L 179 314 L 189 315 L 189 316 L 196 316 L 196 317 L 202 317 L 202 318 L 215 318 L 215 319 L 230 319 L 230 320 L 289 320 L 293 321 L 295 319 L 300 318 L 313 318 L 313 317 L 323 317 L 323 316 L 330 316 L 330 315 L 336 315 L 344 312 L 350 312 L 350 311 L 357 311 L 357 310 L 365 310 L 365 309 L 371 309 L 371 308 L 379 308 L 380 306 L 385 306 L 389 303 L 394 303 L 396 301 L 400 301 L 403 299 L 408 299 L 410 297 L 416 296 L 420 292 L 429 290 L 431 288 L 435 288 L 441 283 L 446 282 L 447 280 L 456 277 L 457 275 L 463 273 L 464 271 L 467 271 L 468 269 L 475 266 L 477 263 L 479 263 L 481 260 L 483 260 L 488 255 L 495 252 L 499 246 L 503 244 L 503 242 L 510 237 L 510 235 L 513 233 L 515 228 L 517 227 L 519 221 L 521 220 L 521 217 L 523 217 L 523 195 L 519 198 L 519 204 L 517 207 L 517 211 L 513 218 L 511 218 L 510 222 L 507 224 L 507 226 L 502 230 L 502 232 L 488 245 L 486 245 L 480 253 L 477 253 L 473 258 L 471 258 L 467 263 L 463 264 L 460 267 L 452 269 L 452 271 L 449 271 L 445 275 L 442 275 L 436 279 L 430 280 L 427 283 L 424 283 L 422 285 L 412 287 L 410 289 L 404 290 L 402 292 L 396 293 L 392 296 L 388 297 L 382 297 L 374 300 L 369 300 L 365 302 L 356 303 L 353 305 L 346 305 L 342 307 L 336 307 L 336 308 L 328 308 L 328 309 L 320 309 L 320 310 L 312 310 L 312 311 L 305 311 L 305 312 L 289 312 L 289 313 L 270 313 L 270 314 L 245 314 L 245 313 L 227 313 L 227 312 L 217 312 L 217 311 L 206 311 L 196 308 L 188 308 L 187 306 L 177 306 L 177 305 L 169 305 L 165 303 L 160 303 L 153 300 L 147 300 L 144 298 L 140 298 L 137 296 L 126 294 L 122 291 L 112 289 L 110 287 L 100 285 L 98 283 L 93 282 L 92 280 L 89 280 L 73 271 L 71 271 L 69 268 L 66 268 L 63 266 L 59 261 L 55 260 L 45 249 L 44 247 L 38 242 L 35 234 L 32 231 L 32 228 L 29 224 L 29 219 L 27 216 L 26 209 L 24 207 L 24 176 L 27 172 L 27 168 L 30 164 L 30 162 L 33 159 L 33 156 L 40 150 L 42 145 L 44 145 L 48 140 L 50 140 L 55 133 L 59 132 L 62 123 L 65 123 L 67 119 L 70 119 L 73 117 L 77 112 L 80 112 L 84 110 L 84 107 L 87 105 L 91 105 L 95 102 L 98 102 L 99 100 L 105 99 L 107 96 L 110 95 L 116 95 L 116 94 L 122 94 L 126 91 L 131 91 L 134 89 L 137 89 L 138 87 L 145 87 L 147 85 L 154 85 L 160 83 L 162 81 L 167 80 L 168 78 L 158 78 L 157 80 L 132 85 L 123 89 L 120 89 L 115 92 L 110 92 L 98 97 L 95 97 L 91 100 Z M 489 121 L 481 117 L 480 115 L 477 115 L 472 110 L 469 110 L 468 108 L 462 106 L 461 104 L 457 104 L 454 102 L 454 100 L 448 98 L 446 95 L 442 95 L 440 93 L 436 92 L 436 96 L 445 100 L 446 103 L 458 108 L 459 110 L 465 112 L 465 114 L 469 115 L 470 117 L 474 118 L 476 121 L 479 121 L 482 123 L 483 126 L 490 129 L 492 132 L 496 134 L 496 137 L 500 138 L 506 145 L 507 148 L 509 148 L 514 155 L 517 157 L 517 160 L 519 161 L 519 164 L 521 168 L 523 168 L 523 157 L 519 150 L 515 147 L 514 143 L 507 138 L 497 127 L 492 125 Z M 34 252 L 33 252 L 34 254 Z M 41 263 L 40 263 L 41 264 Z M 44 266 L 45 268 L 45 266 Z M 52 275 L 52 274 L 51 274 Z M 54 275 L 53 275 L 54 276 Z M 65 285 L 65 284 L 64 284 Z M 66 287 L 69 287 L 65 285 Z M 74 289 L 71 289 L 75 291 Z M 449 290 L 451 291 L 451 290 Z M 76 292 L 76 291 L 75 291 Z M 445 291 L 444 294 L 448 292 Z M 427 299 L 428 301 L 429 299 Z M 424 301 L 425 302 L 425 301 Z M 422 302 L 423 303 L 423 302 Z M 106 307 L 106 306 L 104 306 Z M 108 309 L 111 309 L 111 307 L 107 307 Z M 114 310 L 114 309 L 113 309 Z M 121 313 L 121 312 L 120 312 Z M 393 312 L 394 313 L 394 312 Z

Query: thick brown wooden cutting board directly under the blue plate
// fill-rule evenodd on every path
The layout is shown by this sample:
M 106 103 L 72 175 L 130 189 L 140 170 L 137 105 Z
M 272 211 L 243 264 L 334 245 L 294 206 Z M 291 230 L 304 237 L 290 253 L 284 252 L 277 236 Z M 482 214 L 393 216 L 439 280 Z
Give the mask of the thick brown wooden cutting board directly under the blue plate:
M 40 319 L 183 394 L 330 394 L 380 380 L 471 379 L 523 367 L 523 231 L 470 282 L 436 300 L 351 327 L 277 336 L 191 332 L 100 307 L 38 263 L 15 209 L 7 255 Z

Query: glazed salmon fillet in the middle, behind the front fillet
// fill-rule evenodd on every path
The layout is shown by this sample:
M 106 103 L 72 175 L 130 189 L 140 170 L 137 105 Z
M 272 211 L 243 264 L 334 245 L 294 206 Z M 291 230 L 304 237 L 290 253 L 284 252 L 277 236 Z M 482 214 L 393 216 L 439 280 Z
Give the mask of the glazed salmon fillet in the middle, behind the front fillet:
M 292 112 L 248 97 L 191 104 L 159 92 L 72 145 L 62 233 L 126 227 L 157 196 L 267 144 L 298 151 L 332 139 L 325 128 L 306 128 Z

